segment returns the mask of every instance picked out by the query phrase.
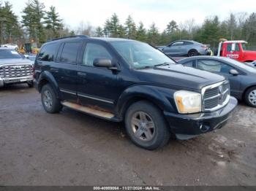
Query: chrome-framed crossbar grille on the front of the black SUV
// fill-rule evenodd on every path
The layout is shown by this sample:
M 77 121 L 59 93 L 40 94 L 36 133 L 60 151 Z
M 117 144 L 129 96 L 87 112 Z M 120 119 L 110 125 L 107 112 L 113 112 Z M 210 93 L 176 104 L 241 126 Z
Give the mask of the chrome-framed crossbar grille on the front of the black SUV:
M 203 111 L 214 111 L 227 104 L 230 98 L 228 81 L 203 87 Z

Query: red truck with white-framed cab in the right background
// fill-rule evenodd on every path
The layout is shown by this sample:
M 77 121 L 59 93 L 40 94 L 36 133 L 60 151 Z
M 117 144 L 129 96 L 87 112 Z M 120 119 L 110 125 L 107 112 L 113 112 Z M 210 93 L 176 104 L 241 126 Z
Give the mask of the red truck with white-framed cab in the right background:
M 223 41 L 219 43 L 218 56 L 233 58 L 241 62 L 256 61 L 256 51 L 246 50 L 246 41 Z

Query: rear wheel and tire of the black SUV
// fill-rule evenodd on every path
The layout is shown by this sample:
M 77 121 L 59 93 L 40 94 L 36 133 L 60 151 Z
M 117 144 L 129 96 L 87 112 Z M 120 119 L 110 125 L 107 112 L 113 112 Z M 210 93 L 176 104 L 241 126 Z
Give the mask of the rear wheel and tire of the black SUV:
M 61 102 L 56 96 L 53 88 L 47 84 L 42 87 L 41 90 L 42 106 L 45 111 L 51 114 L 58 113 L 62 109 Z

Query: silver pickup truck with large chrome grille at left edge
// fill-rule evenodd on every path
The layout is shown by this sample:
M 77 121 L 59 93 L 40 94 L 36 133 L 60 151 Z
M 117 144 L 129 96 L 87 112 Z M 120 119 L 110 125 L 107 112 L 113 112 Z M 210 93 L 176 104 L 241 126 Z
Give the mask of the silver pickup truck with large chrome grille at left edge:
M 0 87 L 13 83 L 34 86 L 32 63 L 16 50 L 0 47 Z

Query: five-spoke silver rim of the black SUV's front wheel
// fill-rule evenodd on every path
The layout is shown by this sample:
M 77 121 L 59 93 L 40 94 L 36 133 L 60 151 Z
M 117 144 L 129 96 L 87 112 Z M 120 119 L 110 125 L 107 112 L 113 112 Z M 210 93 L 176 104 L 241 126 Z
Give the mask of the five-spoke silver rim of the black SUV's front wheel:
M 132 132 L 137 139 L 151 141 L 155 134 L 155 125 L 146 112 L 135 112 L 132 115 Z

